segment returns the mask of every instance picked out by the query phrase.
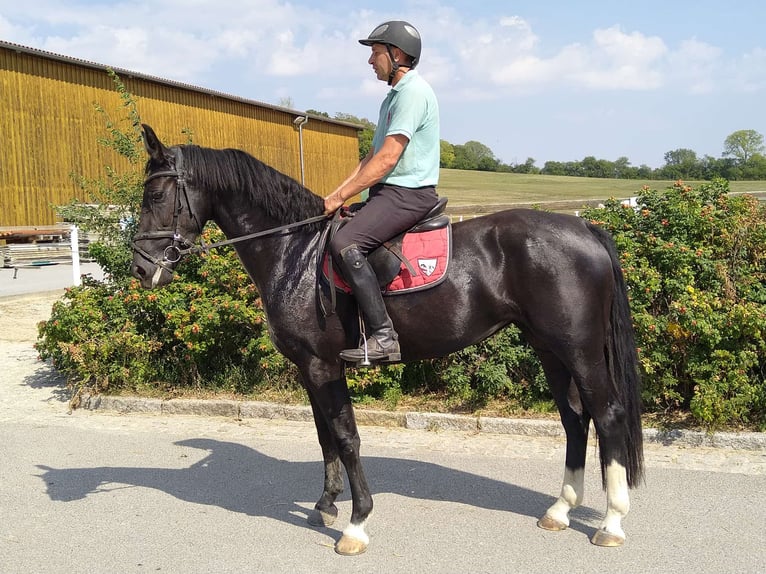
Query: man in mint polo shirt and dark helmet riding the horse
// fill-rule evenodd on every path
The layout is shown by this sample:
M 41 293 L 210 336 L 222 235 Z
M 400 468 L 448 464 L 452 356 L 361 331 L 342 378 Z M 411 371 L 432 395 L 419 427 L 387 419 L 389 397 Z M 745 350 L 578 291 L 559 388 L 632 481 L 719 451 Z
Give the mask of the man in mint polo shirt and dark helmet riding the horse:
M 325 198 L 325 213 L 334 213 L 369 188 L 369 198 L 335 234 L 330 250 L 364 315 L 367 357 L 396 361 L 401 357 L 399 337 L 367 255 L 415 225 L 437 203 L 439 104 L 431 86 L 414 69 L 421 47 L 414 26 L 401 20 L 384 22 L 359 43 L 370 46 L 367 63 L 391 90 L 380 106 L 370 152 Z M 365 344 L 340 356 L 361 361 Z

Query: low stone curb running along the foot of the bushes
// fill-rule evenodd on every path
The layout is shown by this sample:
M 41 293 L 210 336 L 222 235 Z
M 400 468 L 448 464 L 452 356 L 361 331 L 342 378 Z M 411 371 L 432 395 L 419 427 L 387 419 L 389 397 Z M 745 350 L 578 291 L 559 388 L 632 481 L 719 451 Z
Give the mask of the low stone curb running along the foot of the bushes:
M 192 415 L 229 417 L 237 420 L 262 418 L 313 422 L 311 407 L 282 405 L 263 401 L 205 399 L 147 399 L 139 397 L 83 397 L 81 408 L 120 414 Z M 536 437 L 563 437 L 558 421 L 506 419 L 427 412 L 390 412 L 355 409 L 363 426 L 401 427 L 410 430 L 468 431 Z M 693 430 L 644 429 L 644 440 L 666 446 L 766 450 L 766 433 L 706 433 Z

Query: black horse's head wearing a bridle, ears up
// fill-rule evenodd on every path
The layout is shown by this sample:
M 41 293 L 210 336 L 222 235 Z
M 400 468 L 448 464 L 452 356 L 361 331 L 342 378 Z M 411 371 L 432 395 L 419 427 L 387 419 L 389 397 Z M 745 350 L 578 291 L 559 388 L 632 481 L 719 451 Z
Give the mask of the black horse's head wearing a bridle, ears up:
M 153 288 L 173 279 L 173 269 L 202 232 L 209 209 L 188 179 L 181 148 L 165 147 L 146 124 L 143 135 L 149 161 L 132 272 L 142 287 Z

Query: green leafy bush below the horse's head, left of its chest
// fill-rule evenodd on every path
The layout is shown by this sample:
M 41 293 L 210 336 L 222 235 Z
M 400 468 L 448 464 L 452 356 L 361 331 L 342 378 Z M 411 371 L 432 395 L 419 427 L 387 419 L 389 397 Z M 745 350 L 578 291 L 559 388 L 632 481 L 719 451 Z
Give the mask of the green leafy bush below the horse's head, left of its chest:
M 205 235 L 223 238 L 216 229 Z M 78 391 L 250 393 L 295 375 L 272 346 L 261 300 L 233 252 L 190 258 L 155 291 L 135 280 L 86 281 L 54 304 L 39 335 L 40 356 Z

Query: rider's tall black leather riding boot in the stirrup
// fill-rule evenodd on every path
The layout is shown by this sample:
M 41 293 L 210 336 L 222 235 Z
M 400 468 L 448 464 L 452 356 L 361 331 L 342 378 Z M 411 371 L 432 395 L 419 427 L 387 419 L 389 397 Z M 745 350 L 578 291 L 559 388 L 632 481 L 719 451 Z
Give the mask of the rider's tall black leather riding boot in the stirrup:
M 366 342 L 367 358 L 370 361 L 399 361 L 399 336 L 388 316 L 375 271 L 356 245 L 343 250 L 341 257 L 345 279 L 351 285 L 369 331 Z M 365 343 L 362 343 L 358 349 L 341 351 L 340 358 L 358 363 L 365 358 L 364 347 Z

